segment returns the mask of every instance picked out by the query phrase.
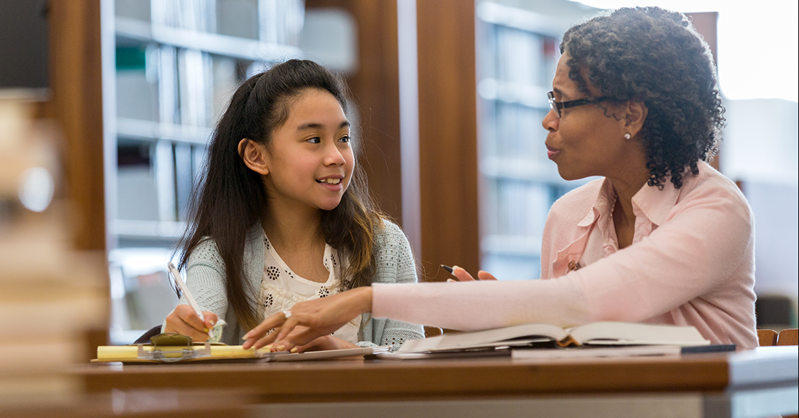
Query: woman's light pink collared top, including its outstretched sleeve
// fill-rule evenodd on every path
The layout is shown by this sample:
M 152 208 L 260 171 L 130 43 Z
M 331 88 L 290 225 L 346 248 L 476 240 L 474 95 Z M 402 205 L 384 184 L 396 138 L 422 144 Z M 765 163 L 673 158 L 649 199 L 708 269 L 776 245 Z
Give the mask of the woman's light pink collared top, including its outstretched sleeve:
M 372 314 L 463 330 L 600 320 L 687 324 L 714 344 L 757 346 L 754 226 L 745 197 L 704 162 L 681 189 L 633 197 L 633 244 L 618 250 L 610 181 L 591 181 L 547 217 L 539 281 L 372 285 Z

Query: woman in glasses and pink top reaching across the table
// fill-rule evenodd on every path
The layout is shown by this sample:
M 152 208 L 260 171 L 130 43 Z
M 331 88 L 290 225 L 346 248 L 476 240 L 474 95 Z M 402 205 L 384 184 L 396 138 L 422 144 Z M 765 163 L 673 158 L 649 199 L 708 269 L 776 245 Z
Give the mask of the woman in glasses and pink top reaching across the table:
M 365 312 L 463 330 L 682 324 L 714 344 L 757 346 L 753 217 L 705 162 L 724 123 L 707 44 L 684 15 L 648 7 L 572 27 L 561 52 L 543 120 L 548 156 L 566 180 L 604 178 L 552 206 L 541 271 L 555 280 L 373 285 L 278 313 L 245 346 L 299 344 Z M 291 332 L 297 324 L 308 328 Z

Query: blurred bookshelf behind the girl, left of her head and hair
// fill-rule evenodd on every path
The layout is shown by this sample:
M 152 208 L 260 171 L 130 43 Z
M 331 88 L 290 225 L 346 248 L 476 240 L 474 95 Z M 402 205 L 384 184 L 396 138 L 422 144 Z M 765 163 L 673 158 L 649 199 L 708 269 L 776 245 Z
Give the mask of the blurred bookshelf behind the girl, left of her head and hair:
M 102 6 L 109 21 L 102 33 L 104 180 L 116 344 L 132 342 L 173 309 L 174 301 L 153 295 L 170 292 L 162 270 L 185 229 L 213 125 L 240 82 L 300 57 L 304 1 Z

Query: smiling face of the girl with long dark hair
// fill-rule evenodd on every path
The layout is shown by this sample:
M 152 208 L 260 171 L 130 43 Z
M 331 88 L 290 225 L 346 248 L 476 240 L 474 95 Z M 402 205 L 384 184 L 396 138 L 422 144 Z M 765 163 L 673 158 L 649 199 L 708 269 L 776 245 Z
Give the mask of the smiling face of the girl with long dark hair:
M 272 132 L 266 153 L 270 203 L 335 209 L 355 167 L 349 121 L 328 91 L 305 90 L 288 105 L 288 119 Z

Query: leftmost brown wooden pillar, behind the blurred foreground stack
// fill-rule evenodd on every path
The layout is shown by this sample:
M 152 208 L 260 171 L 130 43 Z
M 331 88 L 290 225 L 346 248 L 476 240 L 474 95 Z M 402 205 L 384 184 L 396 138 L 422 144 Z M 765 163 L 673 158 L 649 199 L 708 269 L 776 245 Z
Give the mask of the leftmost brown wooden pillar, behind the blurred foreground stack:
M 47 115 L 64 137 L 62 155 L 77 249 L 105 250 L 100 2 L 50 2 Z

